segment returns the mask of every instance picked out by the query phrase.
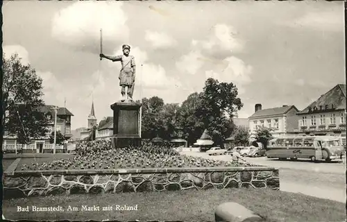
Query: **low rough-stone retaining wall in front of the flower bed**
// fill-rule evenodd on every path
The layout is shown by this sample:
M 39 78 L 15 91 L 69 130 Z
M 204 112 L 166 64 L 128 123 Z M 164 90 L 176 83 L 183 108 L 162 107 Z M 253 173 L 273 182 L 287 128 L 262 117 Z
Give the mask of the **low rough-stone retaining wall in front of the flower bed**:
M 196 167 L 6 171 L 4 198 L 58 194 L 101 194 L 186 189 L 253 187 L 279 189 L 278 169 L 271 167 Z

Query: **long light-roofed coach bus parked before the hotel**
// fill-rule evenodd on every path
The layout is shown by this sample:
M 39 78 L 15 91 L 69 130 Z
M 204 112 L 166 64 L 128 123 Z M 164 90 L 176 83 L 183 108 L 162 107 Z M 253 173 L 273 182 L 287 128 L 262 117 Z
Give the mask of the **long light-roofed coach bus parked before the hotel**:
M 341 139 L 334 136 L 279 137 L 271 139 L 267 147 L 266 157 L 280 160 L 296 160 L 298 158 L 316 160 L 341 159 L 345 149 Z

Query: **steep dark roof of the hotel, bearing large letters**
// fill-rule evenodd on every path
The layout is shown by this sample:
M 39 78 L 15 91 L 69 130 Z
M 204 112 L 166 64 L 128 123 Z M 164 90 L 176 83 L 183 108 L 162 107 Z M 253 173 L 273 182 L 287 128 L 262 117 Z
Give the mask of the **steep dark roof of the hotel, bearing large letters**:
M 336 110 L 344 110 L 346 108 L 346 85 L 336 85 L 298 114 L 307 114 L 310 108 L 319 108 L 320 106 L 325 108 L 325 105 L 328 105 L 329 108 L 333 105 Z

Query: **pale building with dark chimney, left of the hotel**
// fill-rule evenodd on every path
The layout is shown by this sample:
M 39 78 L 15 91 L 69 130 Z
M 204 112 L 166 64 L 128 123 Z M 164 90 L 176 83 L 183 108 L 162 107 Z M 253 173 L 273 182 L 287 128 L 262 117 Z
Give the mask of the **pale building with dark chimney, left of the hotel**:
M 255 138 L 255 130 L 259 127 L 271 128 L 273 137 L 287 135 L 298 128 L 299 110 L 294 105 L 282 105 L 278 108 L 262 110 L 261 104 L 255 104 L 255 113 L 248 117 L 251 139 Z

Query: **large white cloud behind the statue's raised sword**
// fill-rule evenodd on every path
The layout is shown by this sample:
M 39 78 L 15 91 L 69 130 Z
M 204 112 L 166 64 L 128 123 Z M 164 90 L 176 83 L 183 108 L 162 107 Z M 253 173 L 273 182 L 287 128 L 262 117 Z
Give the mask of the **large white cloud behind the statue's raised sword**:
M 113 48 L 128 41 L 127 17 L 122 5 L 119 1 L 77 1 L 54 15 L 51 33 L 69 46 L 99 53 L 102 28 L 103 48 Z

